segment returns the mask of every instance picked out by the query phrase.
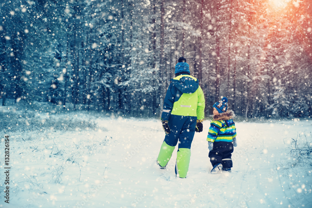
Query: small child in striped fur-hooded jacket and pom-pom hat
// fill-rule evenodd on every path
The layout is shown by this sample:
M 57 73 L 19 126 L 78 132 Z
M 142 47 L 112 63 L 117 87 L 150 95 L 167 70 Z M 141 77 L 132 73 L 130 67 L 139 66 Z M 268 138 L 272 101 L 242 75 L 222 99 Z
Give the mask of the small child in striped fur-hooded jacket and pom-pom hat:
M 237 146 L 234 116 L 232 110 L 227 110 L 226 97 L 213 105 L 213 118 L 207 136 L 211 174 L 217 174 L 219 171 L 231 172 L 233 167 L 231 156 L 233 146 Z

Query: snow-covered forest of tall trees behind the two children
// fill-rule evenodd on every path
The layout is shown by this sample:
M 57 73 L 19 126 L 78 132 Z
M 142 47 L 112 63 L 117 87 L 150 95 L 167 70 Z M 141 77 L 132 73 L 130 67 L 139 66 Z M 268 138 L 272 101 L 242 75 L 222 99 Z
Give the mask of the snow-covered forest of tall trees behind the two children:
M 246 118 L 312 115 L 312 1 L 0 3 L 0 99 L 159 117 L 180 56 Z

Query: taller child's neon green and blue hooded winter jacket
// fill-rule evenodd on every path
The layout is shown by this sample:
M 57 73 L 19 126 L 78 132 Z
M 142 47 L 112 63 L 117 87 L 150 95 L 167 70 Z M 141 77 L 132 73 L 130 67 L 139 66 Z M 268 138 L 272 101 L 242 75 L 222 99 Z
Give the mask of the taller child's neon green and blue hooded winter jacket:
M 204 119 L 205 98 L 198 80 L 183 74 L 169 81 L 172 82 L 164 99 L 161 120 L 168 121 L 170 114 Z

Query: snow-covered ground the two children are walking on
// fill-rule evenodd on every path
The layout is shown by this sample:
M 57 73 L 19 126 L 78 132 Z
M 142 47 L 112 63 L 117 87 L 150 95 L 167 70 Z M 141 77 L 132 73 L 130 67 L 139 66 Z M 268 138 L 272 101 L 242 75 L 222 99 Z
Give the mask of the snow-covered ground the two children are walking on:
M 10 203 L 1 191 L 0 207 L 312 207 L 311 152 L 300 152 L 312 148 L 311 120 L 236 122 L 232 172 L 212 175 L 206 119 L 181 179 L 177 148 L 166 170 L 155 165 L 165 135 L 157 119 L 7 107 L 0 114 L 9 126 L 0 129 L 2 190 L 6 135 L 11 167 Z

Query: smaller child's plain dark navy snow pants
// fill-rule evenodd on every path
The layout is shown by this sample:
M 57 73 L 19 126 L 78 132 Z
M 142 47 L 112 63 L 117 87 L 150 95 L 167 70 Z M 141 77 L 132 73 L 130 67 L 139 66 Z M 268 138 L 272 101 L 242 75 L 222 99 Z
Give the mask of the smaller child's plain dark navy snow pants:
M 233 167 L 232 153 L 234 151 L 232 142 L 214 142 L 213 148 L 209 152 L 210 162 L 212 167 L 221 163 L 224 168 Z

